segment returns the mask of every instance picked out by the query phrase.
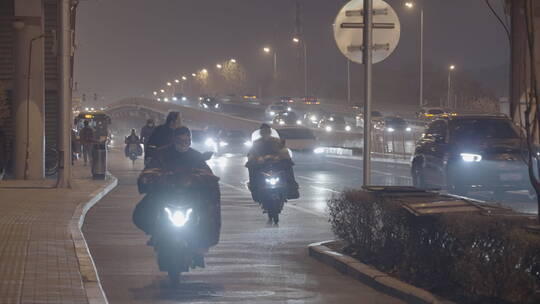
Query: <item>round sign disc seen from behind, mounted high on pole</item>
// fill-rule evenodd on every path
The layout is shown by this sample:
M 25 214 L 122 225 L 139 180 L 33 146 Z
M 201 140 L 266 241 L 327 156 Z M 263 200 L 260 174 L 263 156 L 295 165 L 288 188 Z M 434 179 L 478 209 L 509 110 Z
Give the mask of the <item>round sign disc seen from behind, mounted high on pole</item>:
M 364 0 L 352 0 L 339 12 L 334 22 L 334 38 L 339 50 L 351 61 L 362 63 L 364 49 Z M 373 0 L 373 63 L 386 59 L 399 42 L 399 19 L 383 0 Z

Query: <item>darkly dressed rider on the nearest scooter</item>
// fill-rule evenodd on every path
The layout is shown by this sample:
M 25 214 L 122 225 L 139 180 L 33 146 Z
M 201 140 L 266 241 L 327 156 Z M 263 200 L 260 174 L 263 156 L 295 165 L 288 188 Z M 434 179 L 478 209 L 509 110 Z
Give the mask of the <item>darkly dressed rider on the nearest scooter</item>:
M 154 221 L 159 212 L 160 196 L 163 195 L 163 187 L 144 189 L 146 183 L 145 172 L 149 172 L 150 179 L 153 179 L 152 172 L 174 173 L 188 172 L 191 176 L 196 176 L 197 183 L 202 185 L 199 191 L 203 198 L 200 205 L 201 212 L 205 216 L 201 218 L 201 257 L 202 252 L 215 245 L 219 241 L 221 229 L 221 207 L 220 190 L 216 176 L 206 164 L 202 153 L 192 149 L 191 131 L 187 127 L 180 127 L 174 130 L 173 142 L 169 145 L 158 148 L 154 151 L 154 156 L 139 177 L 139 191 L 147 195 L 137 204 L 133 212 L 133 222 L 146 234 L 152 235 Z M 158 176 L 161 179 L 163 176 Z M 166 190 L 165 190 L 166 191 Z M 149 241 L 152 244 L 152 240 Z M 202 260 L 202 258 L 201 258 Z M 201 265 L 199 265 L 201 266 Z

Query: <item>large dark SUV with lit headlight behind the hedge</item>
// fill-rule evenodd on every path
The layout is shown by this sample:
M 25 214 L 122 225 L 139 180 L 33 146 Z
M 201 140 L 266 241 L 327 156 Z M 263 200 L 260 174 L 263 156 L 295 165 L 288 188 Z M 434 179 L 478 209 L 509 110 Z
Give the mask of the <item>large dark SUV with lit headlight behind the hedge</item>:
M 500 195 L 529 190 L 523 135 L 504 116 L 464 115 L 431 122 L 419 139 L 411 175 L 418 188 L 466 195 L 483 189 Z

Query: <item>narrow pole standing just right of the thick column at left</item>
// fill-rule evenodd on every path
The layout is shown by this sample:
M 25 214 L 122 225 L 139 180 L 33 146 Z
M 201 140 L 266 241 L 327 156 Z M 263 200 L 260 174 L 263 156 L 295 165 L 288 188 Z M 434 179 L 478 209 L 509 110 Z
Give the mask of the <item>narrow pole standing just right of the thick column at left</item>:
M 60 71 L 60 101 L 59 132 L 58 132 L 58 188 L 71 187 L 71 1 L 59 1 L 59 71 Z

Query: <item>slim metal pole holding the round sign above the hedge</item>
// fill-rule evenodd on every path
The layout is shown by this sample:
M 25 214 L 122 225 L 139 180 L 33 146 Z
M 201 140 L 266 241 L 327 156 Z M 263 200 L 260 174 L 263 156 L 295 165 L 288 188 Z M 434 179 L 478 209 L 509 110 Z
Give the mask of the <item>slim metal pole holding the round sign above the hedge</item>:
M 364 62 L 364 183 L 371 185 L 371 96 L 373 68 L 373 0 L 364 0 L 363 54 Z

